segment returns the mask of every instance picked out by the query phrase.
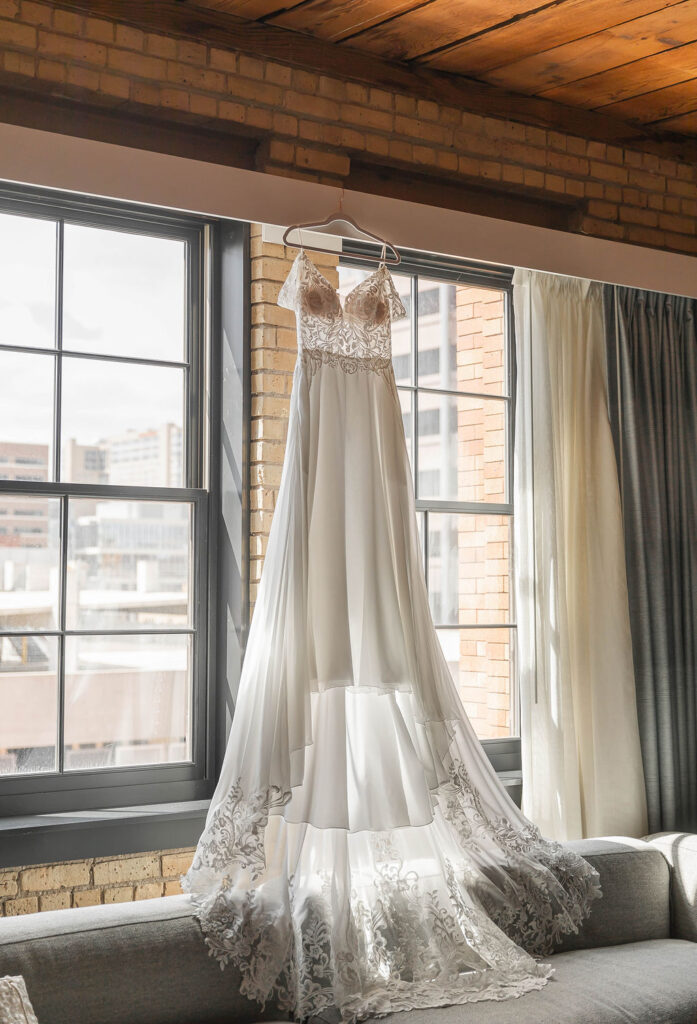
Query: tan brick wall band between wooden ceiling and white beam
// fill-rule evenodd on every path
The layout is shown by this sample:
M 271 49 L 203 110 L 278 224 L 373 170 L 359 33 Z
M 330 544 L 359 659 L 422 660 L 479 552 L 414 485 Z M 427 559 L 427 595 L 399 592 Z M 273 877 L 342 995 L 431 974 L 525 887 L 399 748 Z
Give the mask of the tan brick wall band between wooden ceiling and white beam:
M 351 163 L 578 200 L 578 229 L 697 252 L 697 167 L 480 117 L 36 0 L 0 0 L 5 82 L 100 106 L 161 112 L 260 140 L 258 166 L 325 182 Z M 0 113 L 0 117 L 2 114 Z

